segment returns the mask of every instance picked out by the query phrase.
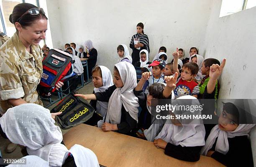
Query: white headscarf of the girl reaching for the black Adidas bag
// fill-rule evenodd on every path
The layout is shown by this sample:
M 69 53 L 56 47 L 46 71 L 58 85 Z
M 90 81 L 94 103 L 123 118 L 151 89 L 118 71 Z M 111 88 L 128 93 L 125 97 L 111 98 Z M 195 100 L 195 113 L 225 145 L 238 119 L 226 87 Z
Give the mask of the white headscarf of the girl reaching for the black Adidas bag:
M 106 122 L 120 124 L 122 104 L 130 116 L 138 122 L 138 98 L 133 89 L 137 86 L 136 70 L 126 61 L 115 64 L 118 69 L 123 87 L 115 89 L 108 102 Z

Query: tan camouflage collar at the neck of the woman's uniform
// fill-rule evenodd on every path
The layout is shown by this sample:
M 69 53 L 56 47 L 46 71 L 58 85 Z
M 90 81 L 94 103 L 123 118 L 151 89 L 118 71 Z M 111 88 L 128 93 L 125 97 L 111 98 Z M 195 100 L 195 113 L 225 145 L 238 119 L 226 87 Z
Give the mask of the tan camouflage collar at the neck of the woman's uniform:
M 17 32 L 13 35 L 13 41 L 14 41 L 14 46 L 17 48 L 18 55 L 20 56 L 20 59 L 22 61 L 25 61 L 29 58 L 33 58 L 32 54 L 33 54 L 33 52 L 35 52 L 35 49 L 33 47 L 35 47 L 35 46 L 31 45 L 32 54 L 30 54 L 26 50 L 26 47 L 21 42 Z

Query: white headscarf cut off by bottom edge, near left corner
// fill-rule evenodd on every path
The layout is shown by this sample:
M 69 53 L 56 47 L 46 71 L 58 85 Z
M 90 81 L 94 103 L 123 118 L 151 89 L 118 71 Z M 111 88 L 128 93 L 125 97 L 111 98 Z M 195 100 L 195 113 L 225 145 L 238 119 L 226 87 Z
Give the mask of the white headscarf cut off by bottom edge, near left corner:
M 49 167 L 49 163 L 35 155 L 22 157 L 26 159 L 26 164 L 9 164 L 7 167 Z

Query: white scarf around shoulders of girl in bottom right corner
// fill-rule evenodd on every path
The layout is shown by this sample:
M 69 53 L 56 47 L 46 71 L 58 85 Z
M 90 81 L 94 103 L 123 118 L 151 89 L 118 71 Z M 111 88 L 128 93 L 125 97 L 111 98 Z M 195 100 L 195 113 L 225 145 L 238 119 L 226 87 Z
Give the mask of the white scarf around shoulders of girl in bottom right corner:
M 245 135 L 249 136 L 249 132 L 254 126 L 255 124 L 239 124 L 236 130 L 228 132 L 220 130 L 219 125 L 215 125 L 215 127 L 212 128 L 210 135 L 208 136 L 205 142 L 205 146 L 201 149 L 200 154 L 206 155 L 208 150 L 212 148 L 217 137 L 218 139 L 215 151 L 220 152 L 222 154 L 227 154 L 229 150 L 228 138 Z

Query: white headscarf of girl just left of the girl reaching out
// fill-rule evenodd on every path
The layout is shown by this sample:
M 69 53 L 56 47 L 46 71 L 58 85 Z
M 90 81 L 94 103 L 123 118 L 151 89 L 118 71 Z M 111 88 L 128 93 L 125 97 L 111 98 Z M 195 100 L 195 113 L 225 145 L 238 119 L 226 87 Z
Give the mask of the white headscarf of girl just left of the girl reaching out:
M 99 88 L 94 88 L 94 92 L 104 92 L 106 89 L 108 89 L 110 86 L 113 86 L 113 78 L 111 75 L 110 70 L 105 67 L 105 66 L 98 66 L 100 67 L 101 73 L 102 73 L 102 83 L 103 86 L 99 87 Z M 103 120 L 105 119 L 106 113 L 108 111 L 108 102 L 104 102 L 104 101 L 97 101 L 96 103 L 96 108 L 97 108 L 97 114 L 100 114 L 103 117 Z M 100 122 L 98 122 L 98 127 L 101 126 L 101 124 L 104 123 L 103 120 L 100 120 Z

